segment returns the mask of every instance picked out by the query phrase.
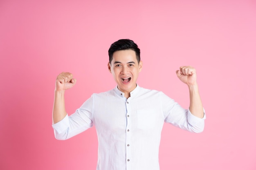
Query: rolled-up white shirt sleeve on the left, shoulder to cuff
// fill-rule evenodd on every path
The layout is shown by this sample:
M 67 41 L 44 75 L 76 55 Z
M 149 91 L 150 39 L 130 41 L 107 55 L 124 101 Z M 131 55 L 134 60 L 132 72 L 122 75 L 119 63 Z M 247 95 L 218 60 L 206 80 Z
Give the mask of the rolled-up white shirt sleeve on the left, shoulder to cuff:
M 66 115 L 61 121 L 53 124 L 54 135 L 56 139 L 65 140 L 78 135 L 79 133 L 91 128 L 93 98 L 90 97 L 75 113 Z

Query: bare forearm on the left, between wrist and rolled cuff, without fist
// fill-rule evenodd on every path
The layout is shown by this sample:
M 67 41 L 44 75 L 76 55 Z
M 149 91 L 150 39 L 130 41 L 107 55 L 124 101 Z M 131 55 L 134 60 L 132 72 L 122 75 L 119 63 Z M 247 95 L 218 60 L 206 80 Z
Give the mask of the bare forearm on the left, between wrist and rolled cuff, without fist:
M 67 115 L 65 110 L 64 93 L 65 91 L 55 91 L 54 106 L 52 111 L 53 124 L 61 121 Z

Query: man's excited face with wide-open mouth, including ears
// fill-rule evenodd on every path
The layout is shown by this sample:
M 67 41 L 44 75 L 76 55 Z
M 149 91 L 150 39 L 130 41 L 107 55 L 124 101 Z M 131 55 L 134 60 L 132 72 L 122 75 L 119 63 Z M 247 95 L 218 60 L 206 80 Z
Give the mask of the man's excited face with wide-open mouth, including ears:
M 111 63 L 108 63 L 108 70 L 117 82 L 118 89 L 123 93 L 130 93 L 136 88 L 141 69 L 142 62 L 138 63 L 133 50 L 116 51 Z

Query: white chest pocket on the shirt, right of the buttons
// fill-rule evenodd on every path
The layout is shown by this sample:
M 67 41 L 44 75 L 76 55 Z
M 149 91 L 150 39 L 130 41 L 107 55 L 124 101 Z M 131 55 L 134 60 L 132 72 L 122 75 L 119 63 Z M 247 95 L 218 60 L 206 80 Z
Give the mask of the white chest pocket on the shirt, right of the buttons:
M 150 109 L 137 110 L 137 128 L 143 130 L 153 129 L 157 126 L 159 118 L 157 112 Z

